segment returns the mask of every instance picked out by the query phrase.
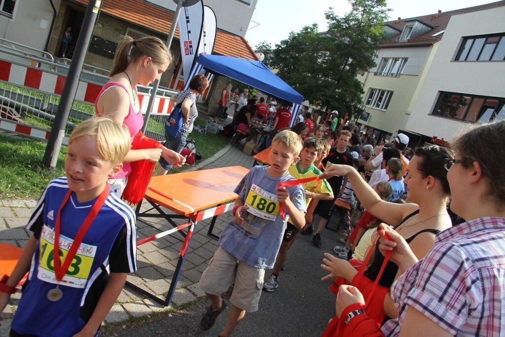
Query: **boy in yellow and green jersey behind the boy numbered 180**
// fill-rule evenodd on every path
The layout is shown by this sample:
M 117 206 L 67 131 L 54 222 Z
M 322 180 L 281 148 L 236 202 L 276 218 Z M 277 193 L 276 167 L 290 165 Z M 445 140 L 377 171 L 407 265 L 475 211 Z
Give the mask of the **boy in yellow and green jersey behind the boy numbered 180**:
M 325 145 L 322 141 L 315 138 L 309 138 L 304 142 L 304 147 L 300 152 L 300 160 L 296 165 L 289 167 L 289 174 L 295 179 L 310 178 L 314 176 L 319 176 L 322 172 L 314 166 L 314 162 L 320 156 L 323 155 Z M 311 200 L 332 200 L 333 191 L 330 184 L 323 179 L 322 181 L 309 181 L 302 186 L 305 189 L 305 198 L 307 213 L 305 214 L 305 220 L 308 223 L 312 222 L 312 216 L 315 207 L 309 209 L 309 204 Z M 277 253 L 277 258 L 275 259 L 275 266 L 272 271 L 272 275 L 268 281 L 263 285 L 263 289 L 267 292 L 273 292 L 279 286 L 279 273 L 282 270 L 282 265 L 286 261 L 287 252 L 291 248 L 298 234 L 298 228 L 296 228 L 291 220 L 288 220 L 287 228 L 284 231 L 284 236 L 282 238 L 282 244 Z

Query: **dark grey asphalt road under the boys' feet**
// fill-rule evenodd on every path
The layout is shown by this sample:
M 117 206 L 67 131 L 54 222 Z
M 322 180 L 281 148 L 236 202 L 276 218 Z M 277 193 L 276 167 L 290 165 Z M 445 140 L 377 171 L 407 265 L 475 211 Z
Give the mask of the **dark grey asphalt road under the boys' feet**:
M 334 215 L 332 220 L 337 220 Z M 320 336 L 328 320 L 335 314 L 335 297 L 328 290 L 330 281 L 321 281 L 326 273 L 320 267 L 323 254 L 333 252 L 338 242 L 336 232 L 325 229 L 323 245 L 316 248 L 312 235 L 298 234 L 288 252 L 285 270 L 279 275 L 279 287 L 273 293 L 263 291 L 260 309 L 247 313 L 234 332 L 234 336 Z M 265 278 L 270 277 L 267 270 Z M 226 294 L 229 298 L 230 292 Z M 217 336 L 226 323 L 229 307 L 219 316 L 214 327 L 200 331 L 199 322 L 205 305 L 198 301 L 184 312 L 162 314 L 150 321 L 126 324 L 105 335 L 118 336 Z M 105 331 L 104 331 L 105 332 Z M 110 332 L 110 331 L 108 331 Z

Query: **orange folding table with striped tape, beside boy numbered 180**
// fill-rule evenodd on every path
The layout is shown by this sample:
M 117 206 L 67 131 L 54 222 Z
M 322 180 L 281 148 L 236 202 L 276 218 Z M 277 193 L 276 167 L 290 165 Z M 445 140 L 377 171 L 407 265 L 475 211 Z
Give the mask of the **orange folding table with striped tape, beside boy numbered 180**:
M 183 246 L 165 300 L 130 282 L 127 282 L 127 285 L 162 305 L 170 305 L 196 223 L 212 218 L 208 235 L 218 239 L 219 237 L 212 233 L 216 218 L 220 214 L 233 209 L 233 201 L 237 198 L 233 190 L 247 172 L 249 172 L 249 169 L 244 167 L 230 166 L 151 177 L 149 186 L 145 191 L 144 200 L 152 207 L 140 212 L 141 201 L 135 211 L 137 221 L 142 221 L 139 218 L 164 218 L 174 228 L 137 240 L 137 246 L 174 232 L 179 232 L 182 236 Z M 166 213 L 162 207 L 175 214 Z M 149 213 L 153 210 L 157 212 Z M 187 219 L 188 222 L 180 225 L 175 223 L 174 219 Z M 145 223 L 150 225 L 147 222 Z

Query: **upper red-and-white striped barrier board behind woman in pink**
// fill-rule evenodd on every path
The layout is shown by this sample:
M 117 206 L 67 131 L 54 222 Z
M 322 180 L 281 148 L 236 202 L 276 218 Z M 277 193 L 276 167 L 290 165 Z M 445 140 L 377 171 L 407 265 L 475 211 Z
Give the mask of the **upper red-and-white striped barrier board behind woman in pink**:
M 57 66 L 55 64 L 55 66 Z M 55 72 L 32 68 L 8 61 L 0 60 L 0 81 L 13 85 L 19 85 L 26 88 L 35 89 L 44 93 L 60 96 L 63 91 L 66 76 Z M 79 81 L 75 100 L 79 102 L 94 104 L 98 93 L 102 90 L 102 85 L 90 83 L 83 80 Z M 142 114 L 147 111 L 149 102 L 148 93 L 138 93 L 138 100 Z M 153 104 L 152 115 L 167 115 L 172 112 L 173 105 L 170 98 L 157 95 Z

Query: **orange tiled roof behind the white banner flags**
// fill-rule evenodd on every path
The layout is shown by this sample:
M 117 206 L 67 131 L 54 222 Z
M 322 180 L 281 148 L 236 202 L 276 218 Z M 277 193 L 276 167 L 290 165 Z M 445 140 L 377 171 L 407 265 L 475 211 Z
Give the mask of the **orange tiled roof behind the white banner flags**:
M 88 0 L 73 1 L 84 6 L 88 4 Z M 167 35 L 174 19 L 173 12 L 142 0 L 104 0 L 102 12 Z M 179 38 L 178 28 L 175 38 Z M 217 30 L 213 53 L 258 60 L 245 38 L 220 29 Z

